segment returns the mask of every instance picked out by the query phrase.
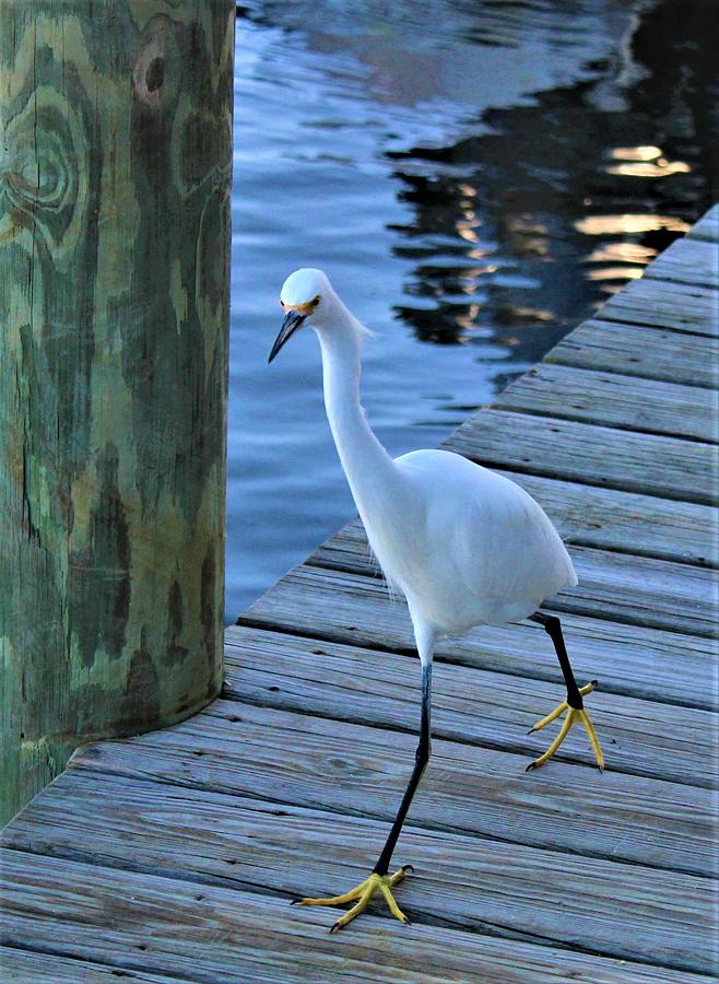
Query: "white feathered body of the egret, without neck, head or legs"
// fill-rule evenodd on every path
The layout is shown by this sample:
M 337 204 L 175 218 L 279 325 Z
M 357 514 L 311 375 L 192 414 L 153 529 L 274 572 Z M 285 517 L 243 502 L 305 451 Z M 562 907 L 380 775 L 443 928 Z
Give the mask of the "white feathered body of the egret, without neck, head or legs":
M 523 619 L 577 584 L 554 526 L 515 482 L 444 450 L 412 452 L 396 466 L 411 517 L 396 549 L 416 559 L 398 585 L 439 633 Z M 385 542 L 369 537 L 381 564 Z

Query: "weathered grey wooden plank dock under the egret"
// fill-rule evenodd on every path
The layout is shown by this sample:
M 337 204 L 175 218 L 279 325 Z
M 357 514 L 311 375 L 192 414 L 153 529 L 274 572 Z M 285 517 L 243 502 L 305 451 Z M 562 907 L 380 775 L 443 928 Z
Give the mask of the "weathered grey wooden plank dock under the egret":
M 552 599 L 608 771 L 530 623 L 443 642 L 434 754 L 382 905 L 329 936 L 413 761 L 420 673 L 353 523 L 226 634 L 220 700 L 82 747 L 7 828 L 4 982 L 708 981 L 717 963 L 719 207 L 445 446 L 569 544 Z

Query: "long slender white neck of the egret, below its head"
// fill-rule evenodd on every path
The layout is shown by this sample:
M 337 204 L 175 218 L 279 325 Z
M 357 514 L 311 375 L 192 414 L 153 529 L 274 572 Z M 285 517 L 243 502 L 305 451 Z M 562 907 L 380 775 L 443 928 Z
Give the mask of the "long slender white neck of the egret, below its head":
M 398 482 L 394 462 L 373 433 L 360 402 L 360 336 L 340 311 L 332 328 L 318 331 L 322 348 L 325 407 L 334 444 L 365 523 Z

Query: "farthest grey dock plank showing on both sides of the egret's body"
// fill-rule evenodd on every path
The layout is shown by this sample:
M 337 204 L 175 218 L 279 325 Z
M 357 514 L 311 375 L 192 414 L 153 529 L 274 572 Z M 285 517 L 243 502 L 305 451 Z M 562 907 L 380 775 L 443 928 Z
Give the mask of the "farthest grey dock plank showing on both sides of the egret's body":
M 547 608 L 687 635 L 719 635 L 714 571 L 588 547 L 575 547 L 571 557 L 579 584 L 547 599 Z M 357 574 L 378 572 L 358 520 L 320 544 L 307 563 Z

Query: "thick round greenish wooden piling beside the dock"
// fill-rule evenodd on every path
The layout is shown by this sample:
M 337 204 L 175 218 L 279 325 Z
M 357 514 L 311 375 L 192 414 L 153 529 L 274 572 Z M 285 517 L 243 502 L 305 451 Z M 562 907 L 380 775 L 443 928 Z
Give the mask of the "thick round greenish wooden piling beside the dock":
M 222 681 L 234 3 L 0 25 L 7 821 Z

